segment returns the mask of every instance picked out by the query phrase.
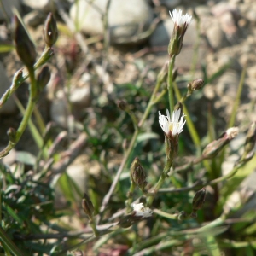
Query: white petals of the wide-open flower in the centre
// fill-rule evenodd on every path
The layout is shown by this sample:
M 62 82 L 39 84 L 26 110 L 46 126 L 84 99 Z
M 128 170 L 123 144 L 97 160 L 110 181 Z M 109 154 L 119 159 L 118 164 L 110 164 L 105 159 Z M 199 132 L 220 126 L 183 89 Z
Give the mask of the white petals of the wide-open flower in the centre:
M 184 120 L 184 113 L 182 117 L 179 119 L 181 109 L 174 110 L 172 113 L 172 119 L 170 117 L 170 113 L 168 109 L 166 110 L 167 115 L 163 115 L 159 111 L 159 124 L 162 128 L 162 130 L 166 133 L 166 136 L 171 131 L 172 136 L 175 136 L 176 134 L 180 134 L 183 131 L 183 126 L 186 123 L 186 120 Z

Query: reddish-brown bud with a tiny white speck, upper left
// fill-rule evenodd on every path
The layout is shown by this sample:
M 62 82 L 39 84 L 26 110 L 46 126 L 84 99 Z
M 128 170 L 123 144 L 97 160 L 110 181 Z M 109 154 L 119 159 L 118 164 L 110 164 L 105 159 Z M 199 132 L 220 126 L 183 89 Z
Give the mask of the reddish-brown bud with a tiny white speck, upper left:
M 58 28 L 55 17 L 49 13 L 44 23 L 44 42 L 49 47 L 52 47 L 58 39 Z

